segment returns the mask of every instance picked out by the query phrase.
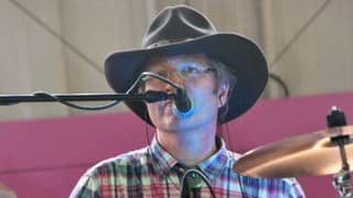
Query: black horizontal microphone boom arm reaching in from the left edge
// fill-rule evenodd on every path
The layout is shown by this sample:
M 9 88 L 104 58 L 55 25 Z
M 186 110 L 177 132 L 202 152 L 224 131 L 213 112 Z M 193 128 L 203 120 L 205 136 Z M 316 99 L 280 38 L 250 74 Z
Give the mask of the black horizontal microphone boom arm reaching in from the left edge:
M 0 95 L 0 106 L 12 106 L 20 102 L 67 102 L 67 101 L 107 101 L 128 100 L 156 102 L 167 100 L 169 95 L 161 91 L 146 91 L 141 94 L 68 94 L 56 95 L 34 92 L 33 95 Z

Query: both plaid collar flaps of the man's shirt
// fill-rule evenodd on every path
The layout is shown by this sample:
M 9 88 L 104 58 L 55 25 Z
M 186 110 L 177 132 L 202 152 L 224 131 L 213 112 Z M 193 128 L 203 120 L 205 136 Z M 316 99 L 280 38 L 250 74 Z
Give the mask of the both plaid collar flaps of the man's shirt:
M 216 136 L 216 145 L 217 152 L 197 165 L 197 167 L 205 174 L 211 183 L 213 183 L 220 176 L 222 169 L 229 165 L 232 161 L 232 157 L 225 147 L 225 143 L 220 136 Z M 153 157 L 152 165 L 157 174 L 165 175 L 165 173 L 168 173 L 178 164 L 178 160 L 169 154 L 158 143 L 156 136 L 152 140 L 150 150 Z

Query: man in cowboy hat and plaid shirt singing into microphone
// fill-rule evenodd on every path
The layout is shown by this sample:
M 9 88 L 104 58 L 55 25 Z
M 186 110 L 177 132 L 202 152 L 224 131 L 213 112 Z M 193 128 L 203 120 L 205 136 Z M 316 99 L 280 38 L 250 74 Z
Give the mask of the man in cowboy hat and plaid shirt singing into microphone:
M 126 102 L 156 128 L 151 145 L 90 168 L 71 197 L 304 197 L 295 179 L 235 173 L 239 155 L 217 135 L 220 124 L 256 102 L 268 78 L 266 59 L 248 38 L 217 33 L 189 7 L 167 8 L 149 26 L 142 50 L 114 53 L 105 68 L 117 92 L 182 90 L 191 105 L 182 110 L 175 97 Z M 149 73 L 135 84 L 142 72 Z

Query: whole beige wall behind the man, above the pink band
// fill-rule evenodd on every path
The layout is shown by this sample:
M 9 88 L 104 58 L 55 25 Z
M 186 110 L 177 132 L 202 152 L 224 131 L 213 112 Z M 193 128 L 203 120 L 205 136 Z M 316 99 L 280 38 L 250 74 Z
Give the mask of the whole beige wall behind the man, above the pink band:
M 31 19 L 13 0 L 0 1 L 0 94 L 111 91 L 103 62 L 137 48 L 148 23 L 165 6 L 188 2 L 220 31 L 238 32 L 265 51 L 270 70 L 292 96 L 353 90 L 353 1 L 258 0 L 17 0 L 84 57 Z M 323 4 L 329 2 L 323 8 Z M 274 63 L 298 35 L 300 36 Z M 87 62 L 87 59 L 89 62 Z M 282 97 L 270 80 L 265 98 Z M 120 105 L 109 111 L 125 110 Z M 107 111 L 93 112 L 105 113 Z M 0 120 L 87 113 L 57 103 L 0 107 Z M 89 112 L 92 113 L 92 112 Z

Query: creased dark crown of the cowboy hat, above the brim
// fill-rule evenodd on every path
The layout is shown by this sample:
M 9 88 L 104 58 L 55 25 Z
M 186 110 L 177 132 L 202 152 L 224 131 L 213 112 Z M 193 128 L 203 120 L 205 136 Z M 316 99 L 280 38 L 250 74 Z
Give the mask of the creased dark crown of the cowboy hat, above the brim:
M 168 7 L 147 29 L 142 47 L 192 40 L 216 32 L 212 22 L 199 11 L 186 6 Z

